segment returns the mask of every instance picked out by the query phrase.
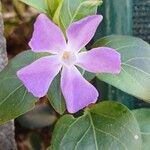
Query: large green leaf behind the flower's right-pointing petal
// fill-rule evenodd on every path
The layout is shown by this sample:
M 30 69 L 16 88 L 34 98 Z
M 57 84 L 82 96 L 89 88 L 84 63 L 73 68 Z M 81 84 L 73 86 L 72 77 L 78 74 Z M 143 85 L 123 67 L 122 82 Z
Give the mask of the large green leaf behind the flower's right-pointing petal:
M 112 47 L 121 54 L 122 70 L 119 75 L 97 74 L 98 79 L 150 101 L 150 46 L 139 38 L 115 35 L 98 40 L 93 47 L 99 46 Z

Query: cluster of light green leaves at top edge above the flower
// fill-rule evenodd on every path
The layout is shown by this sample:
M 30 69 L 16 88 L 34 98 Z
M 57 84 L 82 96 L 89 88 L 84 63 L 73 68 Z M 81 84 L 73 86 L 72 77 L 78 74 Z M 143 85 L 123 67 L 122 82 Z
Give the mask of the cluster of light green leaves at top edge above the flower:
M 97 12 L 102 0 L 20 0 L 46 13 L 63 31 L 74 21 Z

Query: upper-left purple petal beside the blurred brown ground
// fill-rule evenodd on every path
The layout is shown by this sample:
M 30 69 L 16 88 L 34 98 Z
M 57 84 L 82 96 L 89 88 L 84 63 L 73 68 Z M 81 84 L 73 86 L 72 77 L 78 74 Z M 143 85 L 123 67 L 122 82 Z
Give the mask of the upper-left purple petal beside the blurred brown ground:
M 66 47 L 62 31 L 46 15 L 40 14 L 34 24 L 29 46 L 34 52 L 56 53 Z

